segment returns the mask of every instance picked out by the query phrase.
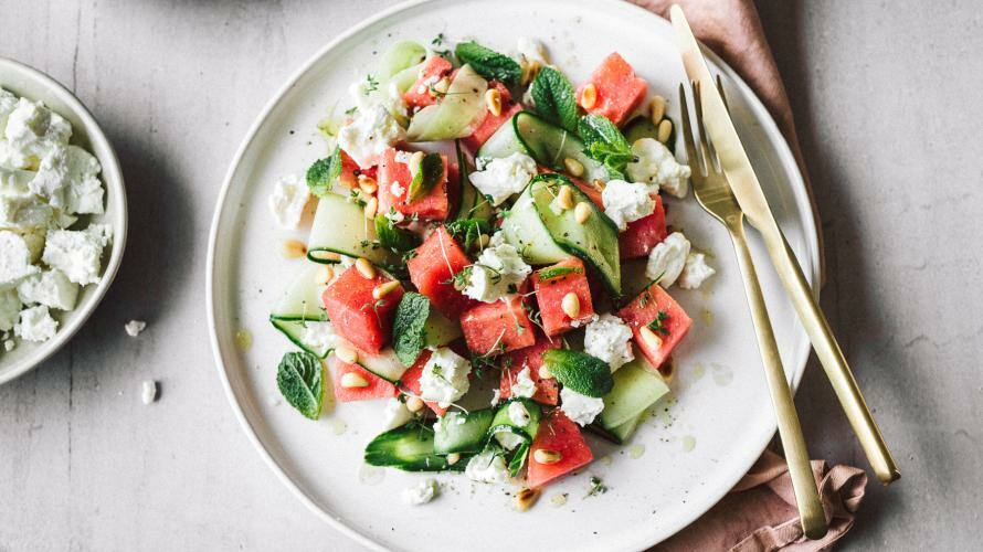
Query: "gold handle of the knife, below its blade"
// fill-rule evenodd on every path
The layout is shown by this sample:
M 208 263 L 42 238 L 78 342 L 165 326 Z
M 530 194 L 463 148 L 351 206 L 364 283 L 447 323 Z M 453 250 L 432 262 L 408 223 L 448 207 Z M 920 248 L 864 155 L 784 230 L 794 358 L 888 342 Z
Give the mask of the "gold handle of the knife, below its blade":
M 779 278 L 781 278 L 792 305 L 799 312 L 799 319 L 812 341 L 816 357 L 826 372 L 826 378 L 829 379 L 833 391 L 836 393 L 854 433 L 860 440 L 860 446 L 864 448 L 877 478 L 885 485 L 896 481 L 901 477 L 901 473 L 898 471 L 898 466 L 884 442 L 884 436 L 870 414 L 870 408 L 867 407 L 867 402 L 846 363 L 846 358 L 844 358 L 836 338 L 833 337 L 833 330 L 829 329 L 826 317 L 812 295 L 808 283 L 802 274 L 802 267 L 795 259 L 795 253 L 789 246 L 781 230 L 775 230 L 776 232 L 761 233 L 768 254 L 771 256 L 772 264 L 778 270 Z

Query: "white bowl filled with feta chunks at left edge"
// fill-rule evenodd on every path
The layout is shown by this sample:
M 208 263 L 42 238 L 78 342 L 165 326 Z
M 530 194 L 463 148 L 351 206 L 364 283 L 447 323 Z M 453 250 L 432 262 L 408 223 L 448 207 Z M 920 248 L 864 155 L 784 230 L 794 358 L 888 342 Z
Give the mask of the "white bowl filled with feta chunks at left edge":
M 0 384 L 82 327 L 126 230 L 119 162 L 92 114 L 53 78 L 0 57 Z

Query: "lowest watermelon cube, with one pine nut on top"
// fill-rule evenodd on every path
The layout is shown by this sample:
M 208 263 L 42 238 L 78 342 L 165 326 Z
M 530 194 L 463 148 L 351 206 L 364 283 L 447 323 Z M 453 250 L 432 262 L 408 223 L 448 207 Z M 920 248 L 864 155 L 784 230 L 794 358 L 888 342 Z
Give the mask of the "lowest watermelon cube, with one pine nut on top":
M 560 460 L 552 464 L 536 461 L 537 450 L 560 453 Z M 577 424 L 563 411 L 557 408 L 539 424 L 539 431 L 529 448 L 529 469 L 526 485 L 539 489 L 567 474 L 580 469 L 594 459 L 594 454 L 580 433 Z

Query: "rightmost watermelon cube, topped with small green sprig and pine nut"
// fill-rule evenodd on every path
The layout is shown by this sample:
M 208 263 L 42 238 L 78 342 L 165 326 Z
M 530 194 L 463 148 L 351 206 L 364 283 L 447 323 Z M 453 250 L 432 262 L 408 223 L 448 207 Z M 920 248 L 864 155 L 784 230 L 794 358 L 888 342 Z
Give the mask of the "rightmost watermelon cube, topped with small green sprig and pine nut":
M 660 322 L 665 331 L 655 331 L 655 336 L 662 342 L 658 347 L 652 347 L 646 340 L 642 339 L 641 328 L 658 318 L 659 311 L 665 312 L 665 317 Z M 635 336 L 635 346 L 645 353 L 645 358 L 653 367 L 662 367 L 663 362 L 673 352 L 679 341 L 686 337 L 693 320 L 683 310 L 662 286 L 653 284 L 645 288 L 638 297 L 632 302 L 617 311 L 617 316 L 632 328 Z

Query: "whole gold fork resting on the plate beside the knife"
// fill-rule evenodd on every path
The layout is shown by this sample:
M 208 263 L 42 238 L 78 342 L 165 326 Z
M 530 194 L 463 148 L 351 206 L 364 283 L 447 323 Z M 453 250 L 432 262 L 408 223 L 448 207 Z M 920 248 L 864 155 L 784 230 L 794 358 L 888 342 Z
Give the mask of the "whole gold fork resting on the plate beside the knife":
M 820 502 L 816 480 L 808 464 L 805 437 L 803 437 L 802 427 L 799 425 L 799 414 L 795 412 L 792 392 L 785 380 L 785 371 L 782 369 L 782 359 L 779 355 L 779 347 L 775 343 L 771 320 L 768 316 L 768 307 L 764 305 L 764 296 L 761 294 L 761 285 L 754 270 L 754 262 L 751 259 L 751 250 L 748 247 L 748 238 L 744 235 L 744 213 L 733 197 L 727 177 L 719 169 L 717 153 L 704 128 L 699 84 L 690 83 L 690 85 L 695 104 L 694 112 L 696 113 L 695 127 L 689 120 L 686 89 L 681 84 L 679 85 L 679 103 L 683 110 L 683 141 L 686 144 L 686 155 L 689 157 L 689 166 L 693 168 L 693 191 L 704 210 L 723 223 L 733 242 L 738 265 L 744 280 L 748 307 L 750 307 L 751 319 L 754 323 L 754 333 L 758 337 L 758 349 L 761 351 L 764 375 L 768 380 L 768 389 L 778 421 L 779 436 L 782 439 L 782 448 L 785 450 L 785 460 L 789 463 L 789 475 L 792 477 L 792 488 L 795 492 L 795 502 L 799 505 L 802 530 L 807 538 L 820 539 L 826 534 L 826 514 L 823 511 L 822 502 Z M 719 88 L 719 78 L 717 85 Z M 722 95 L 723 91 L 720 92 Z M 698 134 L 699 152 L 697 152 L 697 145 L 694 141 L 694 132 Z

